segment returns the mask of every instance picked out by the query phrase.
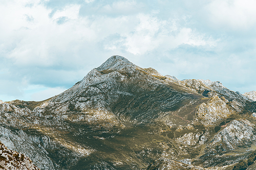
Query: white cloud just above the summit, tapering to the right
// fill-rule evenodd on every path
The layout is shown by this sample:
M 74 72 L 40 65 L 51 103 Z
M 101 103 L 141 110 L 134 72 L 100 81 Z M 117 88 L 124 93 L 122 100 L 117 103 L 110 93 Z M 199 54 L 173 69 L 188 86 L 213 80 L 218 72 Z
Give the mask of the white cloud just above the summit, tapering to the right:
M 197 33 L 190 28 L 178 26 L 175 20 L 161 20 L 156 16 L 139 14 L 139 24 L 126 37 L 126 50 L 134 55 L 160 48 L 171 50 L 181 44 L 215 46 L 216 40 Z

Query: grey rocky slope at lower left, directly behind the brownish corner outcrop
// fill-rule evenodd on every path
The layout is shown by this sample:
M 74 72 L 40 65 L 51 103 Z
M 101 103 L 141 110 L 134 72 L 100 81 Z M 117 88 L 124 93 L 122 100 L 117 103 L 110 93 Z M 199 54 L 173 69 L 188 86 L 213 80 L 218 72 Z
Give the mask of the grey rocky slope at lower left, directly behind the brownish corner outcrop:
M 86 157 L 94 152 L 93 149 L 84 148 L 75 142 L 54 136 L 54 134 L 48 133 L 48 136 L 42 135 L 44 133 L 40 134 L 45 130 L 38 128 L 36 133 L 31 134 L 31 132 L 25 132 L 21 129 L 0 126 L 0 141 L 9 149 L 29 156 L 40 169 L 59 169 L 57 167 L 62 167 L 63 165 L 59 164 L 56 159 L 58 157 L 63 159 L 61 157 L 65 158 L 65 155 L 69 155 L 69 159 L 62 160 L 61 163 L 65 162 L 69 167 L 80 157 Z M 59 155 L 51 154 L 54 152 L 59 152 Z

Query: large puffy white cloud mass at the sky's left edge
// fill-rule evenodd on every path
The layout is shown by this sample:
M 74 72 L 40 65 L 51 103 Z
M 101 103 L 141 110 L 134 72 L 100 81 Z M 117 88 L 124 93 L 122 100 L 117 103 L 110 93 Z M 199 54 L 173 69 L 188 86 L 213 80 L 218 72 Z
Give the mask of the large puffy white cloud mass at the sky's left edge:
M 40 3 L 32 7 L 24 4 L 8 4 L 0 9 L 1 15 L 8 17 L 0 18 L 2 49 L 7 49 L 5 56 L 13 59 L 17 65 L 40 65 L 51 66 L 63 60 L 59 54 L 65 51 L 76 51 L 72 46 L 81 46 L 81 41 L 94 39 L 94 31 L 87 25 L 87 19 L 80 19 L 78 5 L 69 5 L 62 10 L 57 10 L 52 18 L 49 17 L 51 10 Z M 13 12 L 15 10 L 15 13 Z M 33 18 L 33 22 L 27 21 L 26 16 Z M 58 25 L 60 17 L 67 17 L 68 23 Z M 8 18 L 8 19 L 7 19 Z M 11 20 L 10 24 L 9 20 Z M 72 59 L 73 60 L 73 59 Z

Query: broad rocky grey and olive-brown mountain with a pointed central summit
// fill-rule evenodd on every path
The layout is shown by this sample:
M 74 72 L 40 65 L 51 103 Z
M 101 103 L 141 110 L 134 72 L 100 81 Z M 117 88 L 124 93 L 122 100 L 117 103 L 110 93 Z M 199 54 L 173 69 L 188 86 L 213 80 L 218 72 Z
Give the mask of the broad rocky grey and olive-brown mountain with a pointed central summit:
M 0 101 L 0 141 L 40 169 L 251 168 L 254 112 L 220 82 L 112 56 L 53 98 Z

